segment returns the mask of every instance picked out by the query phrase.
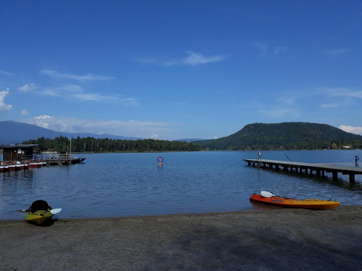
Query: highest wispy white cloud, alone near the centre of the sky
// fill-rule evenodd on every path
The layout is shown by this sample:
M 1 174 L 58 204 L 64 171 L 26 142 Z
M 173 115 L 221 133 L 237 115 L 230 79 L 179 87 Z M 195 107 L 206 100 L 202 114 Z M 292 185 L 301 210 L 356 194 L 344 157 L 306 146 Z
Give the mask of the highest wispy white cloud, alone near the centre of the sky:
M 145 64 L 159 64 L 163 66 L 174 66 L 174 65 L 200 65 L 211 62 L 218 62 L 227 59 L 230 55 L 213 55 L 213 56 L 203 56 L 202 53 L 186 52 L 188 53 L 187 57 L 174 60 L 160 61 L 156 59 L 139 59 L 138 61 Z

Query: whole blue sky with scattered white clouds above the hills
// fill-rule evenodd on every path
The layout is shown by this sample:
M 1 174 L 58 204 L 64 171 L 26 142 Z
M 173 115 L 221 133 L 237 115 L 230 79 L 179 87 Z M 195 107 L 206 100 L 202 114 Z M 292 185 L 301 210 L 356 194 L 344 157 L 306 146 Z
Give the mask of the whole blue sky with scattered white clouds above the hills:
M 0 120 L 216 138 L 362 134 L 361 1 L 0 1 Z

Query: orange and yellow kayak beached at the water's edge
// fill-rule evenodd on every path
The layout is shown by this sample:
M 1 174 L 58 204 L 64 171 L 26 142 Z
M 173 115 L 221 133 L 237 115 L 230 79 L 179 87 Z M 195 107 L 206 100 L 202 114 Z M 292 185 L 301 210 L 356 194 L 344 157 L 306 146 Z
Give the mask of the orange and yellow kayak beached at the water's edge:
M 323 199 L 307 198 L 302 200 L 302 199 L 283 198 L 278 196 L 273 196 L 268 198 L 257 194 L 251 195 L 250 200 L 260 203 L 280 206 L 280 207 L 306 208 L 314 210 L 333 209 L 341 204 L 338 201 L 325 201 Z

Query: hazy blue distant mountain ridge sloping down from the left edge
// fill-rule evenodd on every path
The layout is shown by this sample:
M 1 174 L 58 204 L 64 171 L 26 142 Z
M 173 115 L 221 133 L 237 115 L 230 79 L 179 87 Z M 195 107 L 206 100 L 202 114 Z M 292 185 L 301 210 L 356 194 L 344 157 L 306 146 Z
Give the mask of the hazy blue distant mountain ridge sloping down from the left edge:
M 37 125 L 17 121 L 0 121 L 0 145 L 15 144 L 29 139 L 38 137 L 55 138 L 55 137 L 94 137 L 94 138 L 113 138 L 136 140 L 139 137 L 114 136 L 112 134 L 92 134 L 92 133 L 66 133 L 56 132 L 50 129 L 42 128 Z

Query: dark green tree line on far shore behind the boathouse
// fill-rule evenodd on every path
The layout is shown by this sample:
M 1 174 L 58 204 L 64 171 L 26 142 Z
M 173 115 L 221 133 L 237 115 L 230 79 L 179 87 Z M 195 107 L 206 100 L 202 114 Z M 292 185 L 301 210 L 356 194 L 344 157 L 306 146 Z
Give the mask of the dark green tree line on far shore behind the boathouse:
M 54 139 L 39 137 L 29 139 L 21 144 L 38 144 L 38 150 L 55 149 L 56 151 L 67 151 L 70 147 L 70 140 L 67 137 L 59 136 Z M 36 150 L 36 149 L 35 149 Z M 72 139 L 72 152 L 142 152 L 142 151 L 198 151 L 199 147 L 185 141 L 168 141 L 155 139 L 109 139 L 83 137 Z

